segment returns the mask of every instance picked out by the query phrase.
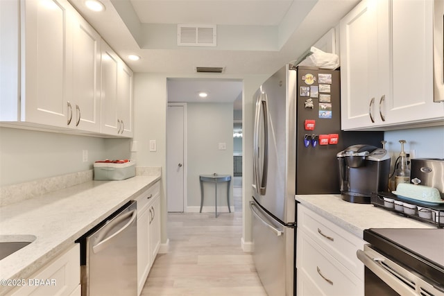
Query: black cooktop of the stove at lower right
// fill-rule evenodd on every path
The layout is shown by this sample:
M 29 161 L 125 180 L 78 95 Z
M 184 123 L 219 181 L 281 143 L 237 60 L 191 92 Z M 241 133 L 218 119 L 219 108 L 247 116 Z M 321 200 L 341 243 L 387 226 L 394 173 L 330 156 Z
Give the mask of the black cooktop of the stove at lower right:
M 444 229 L 367 229 L 379 252 L 444 286 Z

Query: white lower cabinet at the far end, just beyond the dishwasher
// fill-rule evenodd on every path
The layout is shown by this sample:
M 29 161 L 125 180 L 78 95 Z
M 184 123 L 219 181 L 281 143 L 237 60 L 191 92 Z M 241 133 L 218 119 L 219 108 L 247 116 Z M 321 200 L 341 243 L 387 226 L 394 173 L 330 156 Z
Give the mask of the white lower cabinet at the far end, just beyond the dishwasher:
M 160 182 L 137 200 L 137 295 L 142 288 L 160 247 Z

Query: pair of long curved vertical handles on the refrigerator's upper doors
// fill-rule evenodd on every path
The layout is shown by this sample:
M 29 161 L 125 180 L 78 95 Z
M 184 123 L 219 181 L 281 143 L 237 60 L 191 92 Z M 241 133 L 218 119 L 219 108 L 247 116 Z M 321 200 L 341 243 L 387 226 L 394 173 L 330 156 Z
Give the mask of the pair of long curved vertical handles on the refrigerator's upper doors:
M 266 94 L 264 92 L 261 92 L 261 94 L 259 94 L 259 97 L 257 98 L 256 103 L 255 139 L 253 142 L 255 150 L 253 157 L 255 184 L 257 193 L 259 193 L 260 195 L 265 195 L 268 171 L 268 107 L 266 105 L 266 101 Z M 259 125 L 261 123 L 261 116 L 264 121 L 264 159 L 262 160 L 262 176 L 261 170 L 259 170 Z

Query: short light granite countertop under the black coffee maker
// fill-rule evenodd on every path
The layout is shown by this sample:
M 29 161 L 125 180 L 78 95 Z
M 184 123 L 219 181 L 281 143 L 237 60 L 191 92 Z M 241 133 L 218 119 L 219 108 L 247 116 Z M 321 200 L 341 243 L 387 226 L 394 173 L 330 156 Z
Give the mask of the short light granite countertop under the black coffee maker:
M 341 195 L 296 195 L 296 200 L 359 238 L 369 228 L 436 228 L 373 204 L 346 202 Z

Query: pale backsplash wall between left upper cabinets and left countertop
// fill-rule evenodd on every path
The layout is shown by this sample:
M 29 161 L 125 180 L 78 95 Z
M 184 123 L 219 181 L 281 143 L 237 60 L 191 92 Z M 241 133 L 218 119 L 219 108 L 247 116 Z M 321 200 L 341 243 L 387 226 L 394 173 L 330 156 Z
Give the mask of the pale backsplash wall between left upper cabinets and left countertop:
M 86 171 L 99 159 L 128 158 L 128 141 L 0 128 L 0 186 Z

